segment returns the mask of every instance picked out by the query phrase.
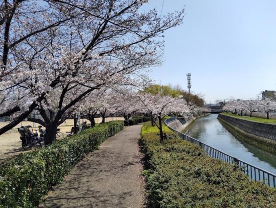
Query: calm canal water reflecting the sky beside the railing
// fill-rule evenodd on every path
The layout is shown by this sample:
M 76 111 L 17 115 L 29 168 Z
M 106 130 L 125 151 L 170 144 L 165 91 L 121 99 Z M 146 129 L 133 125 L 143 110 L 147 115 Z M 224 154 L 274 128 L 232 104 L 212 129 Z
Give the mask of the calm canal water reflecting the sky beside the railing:
M 276 174 L 276 155 L 249 145 L 232 135 L 217 119 L 218 114 L 199 118 L 185 134 L 244 162 Z

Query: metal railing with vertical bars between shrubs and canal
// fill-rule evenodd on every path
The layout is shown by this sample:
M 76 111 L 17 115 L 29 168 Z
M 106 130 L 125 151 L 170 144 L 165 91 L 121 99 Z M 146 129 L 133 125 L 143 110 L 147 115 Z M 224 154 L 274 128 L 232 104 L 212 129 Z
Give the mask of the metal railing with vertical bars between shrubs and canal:
M 186 134 L 183 134 L 171 127 L 169 127 L 167 124 L 177 120 L 177 117 L 171 117 L 169 119 L 165 120 L 165 125 L 173 132 L 177 133 L 177 135 L 183 139 L 187 140 L 193 144 L 199 145 L 203 150 L 205 150 L 206 154 L 214 159 L 219 159 L 223 162 L 226 162 L 228 164 L 237 164 L 240 168 L 240 170 L 249 176 L 251 180 L 254 181 L 262 181 L 263 184 L 267 184 L 270 187 L 276 187 L 276 174 L 270 173 L 266 170 L 263 170 L 259 167 L 256 167 L 250 163 L 244 162 L 232 155 L 229 155 L 225 152 L 222 152 L 216 148 L 213 148 L 197 139 L 194 139 L 193 137 L 190 137 Z

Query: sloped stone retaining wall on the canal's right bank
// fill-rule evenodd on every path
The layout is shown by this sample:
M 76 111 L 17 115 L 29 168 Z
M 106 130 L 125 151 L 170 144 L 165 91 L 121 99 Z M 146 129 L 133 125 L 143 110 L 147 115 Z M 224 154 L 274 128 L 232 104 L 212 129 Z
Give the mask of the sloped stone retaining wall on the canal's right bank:
M 233 135 L 265 151 L 276 153 L 276 125 L 219 114 L 218 120 Z

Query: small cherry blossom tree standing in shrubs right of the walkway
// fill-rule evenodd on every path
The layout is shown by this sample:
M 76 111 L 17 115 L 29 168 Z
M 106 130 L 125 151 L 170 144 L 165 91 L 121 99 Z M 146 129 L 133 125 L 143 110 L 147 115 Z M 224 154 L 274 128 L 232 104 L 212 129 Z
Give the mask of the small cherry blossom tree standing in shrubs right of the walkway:
M 189 108 L 187 107 L 183 99 L 173 98 L 171 96 L 162 96 L 159 94 L 145 94 L 140 95 L 139 98 L 144 106 L 142 111 L 152 117 L 152 120 L 159 129 L 161 142 L 164 139 L 162 130 L 162 119 L 170 114 L 184 116 L 189 113 Z M 158 122 L 155 121 L 155 118 L 158 119 Z

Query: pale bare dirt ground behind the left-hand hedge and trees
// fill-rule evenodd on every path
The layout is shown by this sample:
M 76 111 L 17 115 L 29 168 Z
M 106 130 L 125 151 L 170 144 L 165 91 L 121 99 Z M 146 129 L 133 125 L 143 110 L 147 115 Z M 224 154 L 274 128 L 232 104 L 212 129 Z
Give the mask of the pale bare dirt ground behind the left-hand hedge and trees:
M 117 120 L 124 120 L 123 117 L 114 117 L 114 118 L 107 118 L 106 121 L 117 121 Z M 85 119 L 81 119 L 80 122 L 83 121 L 87 121 Z M 96 123 L 101 123 L 102 119 L 101 118 L 97 118 L 96 119 Z M 0 128 L 7 125 L 7 122 L 0 122 Z M 87 121 L 87 124 L 89 124 L 89 121 Z M 16 127 L 14 127 L 13 129 L 9 130 L 8 132 L 6 132 L 3 135 L 0 135 L 0 162 L 3 160 L 8 160 L 10 158 L 15 157 L 18 154 L 21 154 L 23 152 L 26 152 L 26 150 L 22 149 L 21 146 L 21 140 L 20 140 L 20 136 L 18 133 L 17 128 L 21 127 L 21 125 L 23 126 L 32 126 L 33 130 L 35 132 L 35 130 L 38 130 L 38 125 L 36 124 L 36 128 L 34 128 L 34 123 L 33 122 L 22 122 L 20 124 L 18 124 Z M 62 123 L 59 128 L 60 128 L 60 132 L 62 132 L 64 134 L 64 136 L 66 136 L 66 132 L 70 132 L 71 128 L 73 126 L 73 119 L 68 119 L 66 120 L 66 124 Z M 61 138 L 58 138 L 61 139 Z M 32 149 L 29 149 L 27 151 L 31 151 Z

